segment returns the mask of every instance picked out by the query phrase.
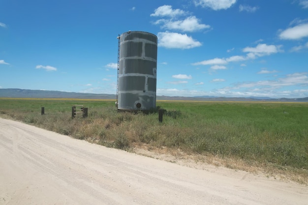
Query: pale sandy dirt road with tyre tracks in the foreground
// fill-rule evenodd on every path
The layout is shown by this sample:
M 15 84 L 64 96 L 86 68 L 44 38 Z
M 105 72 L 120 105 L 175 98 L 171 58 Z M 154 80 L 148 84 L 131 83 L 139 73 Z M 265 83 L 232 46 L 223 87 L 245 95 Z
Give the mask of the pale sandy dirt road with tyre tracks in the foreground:
M 0 205 L 308 205 L 308 187 L 189 168 L 0 118 Z

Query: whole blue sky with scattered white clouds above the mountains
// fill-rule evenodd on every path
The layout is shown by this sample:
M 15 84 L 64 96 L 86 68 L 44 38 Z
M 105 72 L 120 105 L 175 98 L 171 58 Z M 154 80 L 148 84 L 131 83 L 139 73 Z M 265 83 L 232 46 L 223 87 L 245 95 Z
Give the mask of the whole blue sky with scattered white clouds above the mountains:
M 308 0 L 0 0 L 0 88 L 115 94 L 128 30 L 157 95 L 308 96 Z

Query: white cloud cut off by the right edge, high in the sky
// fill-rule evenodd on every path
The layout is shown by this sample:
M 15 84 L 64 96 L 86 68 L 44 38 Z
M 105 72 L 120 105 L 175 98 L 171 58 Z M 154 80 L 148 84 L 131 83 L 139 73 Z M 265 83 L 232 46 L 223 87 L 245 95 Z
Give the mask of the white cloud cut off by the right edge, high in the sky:
M 308 23 L 285 29 L 280 32 L 279 38 L 286 40 L 299 40 L 308 37 Z

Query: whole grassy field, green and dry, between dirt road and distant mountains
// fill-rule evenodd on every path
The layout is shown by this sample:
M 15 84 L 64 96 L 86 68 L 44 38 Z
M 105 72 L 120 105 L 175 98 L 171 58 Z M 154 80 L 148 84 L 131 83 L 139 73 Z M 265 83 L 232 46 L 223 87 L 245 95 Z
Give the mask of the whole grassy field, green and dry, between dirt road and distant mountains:
M 74 104 L 88 107 L 88 117 L 72 118 Z M 308 184 L 308 103 L 158 101 L 156 106 L 166 110 L 162 123 L 155 111 L 118 112 L 114 100 L 0 98 L 0 117 L 103 146 L 142 148 Z

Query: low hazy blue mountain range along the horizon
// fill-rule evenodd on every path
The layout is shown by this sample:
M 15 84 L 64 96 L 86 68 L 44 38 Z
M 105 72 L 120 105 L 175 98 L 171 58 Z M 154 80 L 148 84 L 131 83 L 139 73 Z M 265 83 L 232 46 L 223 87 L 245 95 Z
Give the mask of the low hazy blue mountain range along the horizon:
M 18 88 L 0 89 L 0 97 L 8 98 L 77 98 L 77 99 L 116 99 L 116 94 L 93 94 L 63 92 L 52 90 L 31 90 Z M 216 96 L 156 96 L 157 100 L 194 100 L 194 101 L 269 101 L 269 102 L 308 102 L 305 98 L 270 98 L 270 97 L 216 97 Z

